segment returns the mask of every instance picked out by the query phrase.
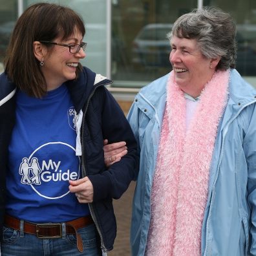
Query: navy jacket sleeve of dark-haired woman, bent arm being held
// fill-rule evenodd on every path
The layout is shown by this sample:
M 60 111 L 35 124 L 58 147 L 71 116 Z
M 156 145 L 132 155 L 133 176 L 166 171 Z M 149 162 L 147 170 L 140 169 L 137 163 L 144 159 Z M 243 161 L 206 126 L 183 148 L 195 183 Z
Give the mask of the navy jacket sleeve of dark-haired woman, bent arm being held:
M 122 109 L 111 93 L 102 87 L 102 134 L 109 144 L 125 141 L 127 155 L 98 175 L 88 175 L 94 187 L 94 202 L 107 197 L 118 199 L 126 191 L 138 172 L 139 156 L 133 131 Z

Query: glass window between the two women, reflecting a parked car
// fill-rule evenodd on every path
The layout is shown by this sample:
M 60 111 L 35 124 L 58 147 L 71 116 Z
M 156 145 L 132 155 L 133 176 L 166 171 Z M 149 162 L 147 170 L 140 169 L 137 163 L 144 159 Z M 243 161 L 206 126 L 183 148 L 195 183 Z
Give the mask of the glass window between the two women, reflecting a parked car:
M 142 87 L 171 70 L 166 34 L 197 0 L 112 0 L 112 86 Z

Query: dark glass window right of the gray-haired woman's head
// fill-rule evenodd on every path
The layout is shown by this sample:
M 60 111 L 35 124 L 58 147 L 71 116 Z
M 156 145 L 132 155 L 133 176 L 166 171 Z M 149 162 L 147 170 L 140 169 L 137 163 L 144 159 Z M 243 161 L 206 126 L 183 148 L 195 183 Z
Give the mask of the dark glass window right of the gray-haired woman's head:
M 219 6 L 229 12 L 237 25 L 236 69 L 256 86 L 256 1 L 204 0 L 204 5 Z

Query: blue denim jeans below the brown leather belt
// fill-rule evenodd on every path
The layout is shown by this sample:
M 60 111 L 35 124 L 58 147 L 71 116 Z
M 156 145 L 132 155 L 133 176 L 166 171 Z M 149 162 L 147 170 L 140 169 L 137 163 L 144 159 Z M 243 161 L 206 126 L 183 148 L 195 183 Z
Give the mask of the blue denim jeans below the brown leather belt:
M 99 256 L 102 255 L 100 245 L 96 239 L 96 227 L 91 224 L 78 229 L 83 240 L 83 253 L 76 246 L 76 235 L 64 233 L 62 238 L 39 239 L 12 228 L 3 228 L 3 241 L 1 242 L 1 256 Z

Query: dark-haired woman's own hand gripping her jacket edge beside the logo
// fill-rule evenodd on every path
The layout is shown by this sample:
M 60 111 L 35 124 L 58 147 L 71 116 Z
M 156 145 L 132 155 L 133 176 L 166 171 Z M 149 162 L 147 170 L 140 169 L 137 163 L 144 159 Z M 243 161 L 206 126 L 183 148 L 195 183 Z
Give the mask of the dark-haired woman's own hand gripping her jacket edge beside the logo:
M 87 204 L 93 200 L 93 186 L 88 177 L 80 178 L 79 180 L 69 180 L 70 193 L 76 193 L 78 202 Z

